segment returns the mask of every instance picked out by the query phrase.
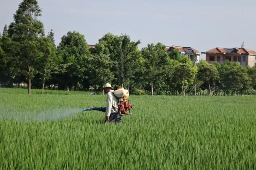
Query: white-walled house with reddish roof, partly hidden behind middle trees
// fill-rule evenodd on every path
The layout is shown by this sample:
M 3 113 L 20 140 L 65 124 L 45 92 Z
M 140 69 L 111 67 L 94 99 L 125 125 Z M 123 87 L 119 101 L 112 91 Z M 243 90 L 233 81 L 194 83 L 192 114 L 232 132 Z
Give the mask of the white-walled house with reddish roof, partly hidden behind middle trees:
M 195 59 L 195 62 L 199 62 L 200 52 L 191 47 L 180 47 L 176 45 L 172 45 L 171 47 L 166 46 L 166 51 L 178 50 L 181 56 L 188 55 L 189 59 L 192 61 Z

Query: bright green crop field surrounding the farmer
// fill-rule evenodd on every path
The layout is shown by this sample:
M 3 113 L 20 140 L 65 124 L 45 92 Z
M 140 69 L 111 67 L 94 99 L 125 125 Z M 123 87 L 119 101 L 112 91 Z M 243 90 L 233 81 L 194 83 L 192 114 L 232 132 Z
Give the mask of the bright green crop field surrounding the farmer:
M 130 96 L 104 123 L 106 96 L 0 88 L 0 169 L 256 169 L 255 96 Z

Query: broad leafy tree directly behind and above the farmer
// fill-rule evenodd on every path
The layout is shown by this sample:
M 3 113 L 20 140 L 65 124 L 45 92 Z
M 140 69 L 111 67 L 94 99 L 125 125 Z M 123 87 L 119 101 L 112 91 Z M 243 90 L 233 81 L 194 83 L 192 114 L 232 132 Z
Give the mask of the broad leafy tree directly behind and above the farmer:
M 132 42 L 128 35 L 116 36 L 105 34 L 99 39 L 95 48 L 91 49 L 92 54 L 108 55 L 113 61 L 111 72 L 114 74 L 113 86 L 130 86 L 135 78 L 135 73 L 140 67 L 142 60 L 137 42 Z

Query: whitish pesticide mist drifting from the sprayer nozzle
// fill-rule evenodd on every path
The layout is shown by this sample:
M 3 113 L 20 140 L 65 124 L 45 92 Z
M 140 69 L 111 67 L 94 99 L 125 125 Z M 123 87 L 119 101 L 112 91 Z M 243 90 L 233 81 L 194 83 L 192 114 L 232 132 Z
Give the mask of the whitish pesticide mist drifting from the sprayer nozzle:
M 15 111 L 0 112 L 0 120 L 14 120 L 14 121 L 59 121 L 67 119 L 80 113 L 79 108 L 58 108 L 49 109 L 41 112 L 26 112 L 20 113 Z

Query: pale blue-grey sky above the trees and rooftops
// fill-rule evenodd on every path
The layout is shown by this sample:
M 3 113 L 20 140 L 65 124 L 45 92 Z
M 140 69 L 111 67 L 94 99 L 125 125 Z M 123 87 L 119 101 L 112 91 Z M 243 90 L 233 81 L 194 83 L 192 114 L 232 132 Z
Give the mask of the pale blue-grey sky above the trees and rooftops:
M 0 0 L 0 32 L 22 0 Z M 139 48 L 162 42 L 205 52 L 215 47 L 256 51 L 256 0 L 38 0 L 45 33 L 55 44 L 68 31 L 96 44 L 106 33 L 128 34 Z M 205 59 L 204 54 L 201 59 Z

